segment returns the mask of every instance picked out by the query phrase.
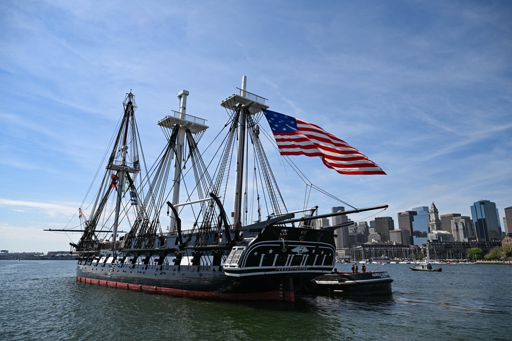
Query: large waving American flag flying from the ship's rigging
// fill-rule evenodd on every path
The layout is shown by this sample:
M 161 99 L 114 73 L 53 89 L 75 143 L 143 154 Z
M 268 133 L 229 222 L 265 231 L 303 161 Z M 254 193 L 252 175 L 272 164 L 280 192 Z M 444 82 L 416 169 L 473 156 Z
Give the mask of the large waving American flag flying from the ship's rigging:
M 321 127 L 282 113 L 263 110 L 281 155 L 319 156 L 341 174 L 386 173 L 360 151 Z

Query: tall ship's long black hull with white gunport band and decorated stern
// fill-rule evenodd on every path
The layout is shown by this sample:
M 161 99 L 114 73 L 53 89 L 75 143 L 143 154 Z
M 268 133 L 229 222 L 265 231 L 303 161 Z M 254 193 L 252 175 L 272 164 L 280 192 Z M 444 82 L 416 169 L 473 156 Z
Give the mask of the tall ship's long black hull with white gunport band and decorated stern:
M 282 230 L 287 229 L 267 226 L 258 236 L 232 247 L 83 253 L 76 277 L 80 282 L 128 289 L 152 287 L 150 292 L 193 298 L 293 301 L 294 292 L 300 292 L 304 283 L 331 272 L 334 240 L 332 232 L 293 228 L 293 239 L 276 241 Z M 297 240 L 301 236 L 303 240 Z M 167 245 L 172 245 L 171 238 Z M 321 238 L 325 241 L 317 240 Z

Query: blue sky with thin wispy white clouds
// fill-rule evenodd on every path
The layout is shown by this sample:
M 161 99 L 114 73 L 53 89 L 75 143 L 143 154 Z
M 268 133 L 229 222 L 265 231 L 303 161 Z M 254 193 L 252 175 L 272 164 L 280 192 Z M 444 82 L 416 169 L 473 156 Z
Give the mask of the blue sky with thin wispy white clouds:
M 377 216 L 475 201 L 512 206 L 512 3 L 508 1 L 0 2 L 0 249 L 66 251 L 126 93 L 147 159 L 178 110 L 226 122 L 241 86 L 321 126 L 387 175 L 341 175 L 294 156 L 311 183 Z M 271 162 L 279 155 L 271 153 Z M 282 162 L 277 161 L 278 164 Z M 283 180 L 289 210 L 305 188 Z M 344 206 L 319 199 L 319 214 Z M 314 206 L 310 205 L 310 206 Z M 373 219 L 374 213 L 349 216 Z

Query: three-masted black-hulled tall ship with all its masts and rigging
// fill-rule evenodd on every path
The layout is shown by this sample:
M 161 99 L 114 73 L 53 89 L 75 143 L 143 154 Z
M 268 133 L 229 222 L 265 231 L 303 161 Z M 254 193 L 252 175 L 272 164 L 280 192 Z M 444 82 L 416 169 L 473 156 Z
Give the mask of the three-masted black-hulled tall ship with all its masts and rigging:
M 288 141 L 288 135 L 297 138 L 302 121 L 268 110 L 267 99 L 246 84 L 244 76 L 238 93 L 221 102 L 226 124 L 206 143 L 206 120 L 186 113 L 189 93 L 179 92 L 178 110 L 158 122 L 166 143 L 151 166 L 134 95 L 126 95 L 99 190 L 78 210 L 80 230 L 67 230 L 82 233 L 70 243 L 78 255 L 77 281 L 197 299 L 294 301 L 312 279 L 330 274 L 336 259 L 335 231 L 342 225 L 318 229 L 312 221 L 387 208 L 325 215 L 317 215 L 316 206 L 288 210 L 260 139 L 272 135 L 260 123 L 270 124 L 282 155 L 321 156 L 339 173 L 384 173 L 348 145 L 342 161 L 332 152 L 315 154 L 325 152 L 312 152 L 302 135 Z M 280 135 L 274 130 L 280 124 L 291 130 Z

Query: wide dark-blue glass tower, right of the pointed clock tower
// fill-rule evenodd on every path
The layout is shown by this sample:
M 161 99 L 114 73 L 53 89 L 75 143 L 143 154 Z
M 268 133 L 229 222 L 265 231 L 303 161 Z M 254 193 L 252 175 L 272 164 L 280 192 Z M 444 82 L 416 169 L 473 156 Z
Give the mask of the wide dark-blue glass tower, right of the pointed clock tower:
M 500 240 L 501 231 L 496 214 L 496 203 L 479 200 L 471 206 L 471 215 L 478 238 L 485 241 Z

